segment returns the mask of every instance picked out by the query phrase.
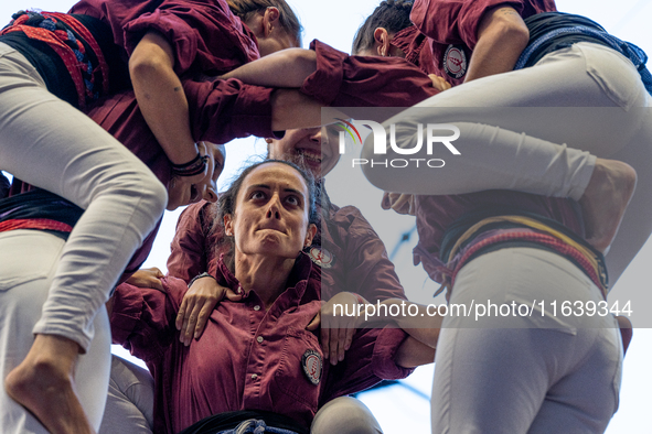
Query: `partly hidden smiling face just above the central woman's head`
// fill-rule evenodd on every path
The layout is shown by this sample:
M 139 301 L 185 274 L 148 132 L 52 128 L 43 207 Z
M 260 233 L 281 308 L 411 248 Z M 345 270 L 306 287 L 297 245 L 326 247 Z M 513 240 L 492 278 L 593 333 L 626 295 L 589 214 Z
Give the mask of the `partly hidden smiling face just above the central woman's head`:
M 338 131 L 334 127 L 287 130 L 282 139 L 269 143 L 269 158 L 302 165 L 320 180 L 340 161 Z

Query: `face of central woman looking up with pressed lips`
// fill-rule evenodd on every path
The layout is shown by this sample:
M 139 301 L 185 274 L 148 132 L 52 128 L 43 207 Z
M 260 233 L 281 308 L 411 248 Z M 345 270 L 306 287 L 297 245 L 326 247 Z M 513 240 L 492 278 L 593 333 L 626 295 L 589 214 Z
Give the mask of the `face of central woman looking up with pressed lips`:
M 224 216 L 225 234 L 235 238 L 236 252 L 295 259 L 312 242 L 309 193 L 295 169 L 266 163 L 244 180 L 234 215 Z

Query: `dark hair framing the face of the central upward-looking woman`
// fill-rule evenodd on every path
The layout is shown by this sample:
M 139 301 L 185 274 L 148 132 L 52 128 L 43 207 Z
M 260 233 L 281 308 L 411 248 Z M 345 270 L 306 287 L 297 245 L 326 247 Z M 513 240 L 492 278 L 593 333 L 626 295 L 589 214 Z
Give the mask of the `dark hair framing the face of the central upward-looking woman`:
M 301 175 L 303 181 L 306 181 L 306 185 L 308 187 L 308 198 L 306 200 L 306 205 L 308 205 L 308 223 L 314 224 L 314 225 L 319 224 L 319 217 L 317 214 L 317 205 L 316 205 L 317 187 L 314 184 L 314 178 L 312 177 L 312 173 L 310 173 L 309 171 L 302 170 L 297 164 L 289 162 L 289 161 L 265 160 L 265 161 L 254 163 L 254 164 L 245 167 L 245 170 L 243 170 L 239 173 L 239 175 L 231 183 L 231 186 L 228 187 L 228 189 L 226 192 L 220 193 L 220 200 L 217 200 L 217 204 L 216 204 L 217 209 L 215 213 L 215 217 L 213 219 L 213 228 L 211 230 L 213 234 L 224 227 L 224 216 L 225 215 L 232 215 L 232 216 L 234 215 L 234 213 L 236 210 L 235 205 L 237 203 L 237 196 L 241 192 L 241 188 L 243 186 L 245 178 L 256 167 L 259 167 L 263 164 L 268 164 L 268 163 L 285 164 L 287 166 L 292 167 L 297 172 L 299 172 L 299 174 Z M 234 249 L 235 245 L 234 245 L 233 237 L 224 235 L 224 238 L 221 240 L 218 246 L 215 246 L 215 248 L 221 247 L 225 242 L 228 242 L 232 247 L 229 253 L 225 254 L 225 257 L 226 257 L 225 263 L 233 271 L 234 270 L 233 264 L 234 264 L 234 259 L 235 259 L 234 254 L 233 254 L 235 251 L 235 249 Z

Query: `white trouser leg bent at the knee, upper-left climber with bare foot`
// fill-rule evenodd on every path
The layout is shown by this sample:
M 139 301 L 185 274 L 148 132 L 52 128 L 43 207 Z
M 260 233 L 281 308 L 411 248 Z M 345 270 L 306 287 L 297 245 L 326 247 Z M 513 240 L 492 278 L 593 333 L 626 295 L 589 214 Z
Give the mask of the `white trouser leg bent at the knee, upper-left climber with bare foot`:
M 165 188 L 90 118 L 49 93 L 24 56 L 2 43 L 0 112 L 0 170 L 85 209 L 33 332 L 86 349 L 93 318 L 164 210 Z

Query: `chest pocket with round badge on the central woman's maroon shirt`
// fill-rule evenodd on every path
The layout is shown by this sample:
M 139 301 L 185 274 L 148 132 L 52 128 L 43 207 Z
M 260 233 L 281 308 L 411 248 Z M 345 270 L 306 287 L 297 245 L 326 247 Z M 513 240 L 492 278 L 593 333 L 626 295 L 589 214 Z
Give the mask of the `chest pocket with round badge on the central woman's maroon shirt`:
M 289 327 L 274 376 L 274 389 L 278 391 L 272 399 L 275 411 L 295 419 L 301 419 L 299 414 L 304 415 L 306 410 L 314 415 L 323 381 L 322 372 L 323 354 L 318 338 L 308 330 Z M 318 379 L 317 383 L 310 377 L 316 381 Z M 298 413 L 296 416 L 292 414 L 295 412 Z

